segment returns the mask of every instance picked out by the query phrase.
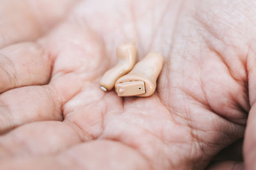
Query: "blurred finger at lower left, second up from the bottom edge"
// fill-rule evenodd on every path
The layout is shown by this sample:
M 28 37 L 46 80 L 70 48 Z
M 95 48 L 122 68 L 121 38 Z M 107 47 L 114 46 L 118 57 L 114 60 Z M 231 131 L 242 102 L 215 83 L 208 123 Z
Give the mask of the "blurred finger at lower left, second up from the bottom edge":
M 53 154 L 79 142 L 77 132 L 67 123 L 29 123 L 0 137 L 0 158 Z

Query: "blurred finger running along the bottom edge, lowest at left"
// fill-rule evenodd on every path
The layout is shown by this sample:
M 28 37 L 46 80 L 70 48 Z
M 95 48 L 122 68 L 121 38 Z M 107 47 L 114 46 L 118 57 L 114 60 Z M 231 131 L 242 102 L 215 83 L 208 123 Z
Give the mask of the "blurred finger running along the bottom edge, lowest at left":
M 79 144 L 51 157 L 0 161 L 0 169 L 150 169 L 138 151 L 113 141 Z

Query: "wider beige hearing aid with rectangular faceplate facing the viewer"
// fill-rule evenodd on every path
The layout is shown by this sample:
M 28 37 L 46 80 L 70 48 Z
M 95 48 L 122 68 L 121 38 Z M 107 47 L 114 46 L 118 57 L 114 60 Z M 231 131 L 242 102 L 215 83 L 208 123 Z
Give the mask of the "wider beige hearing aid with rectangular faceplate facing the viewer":
M 116 81 L 115 91 L 118 96 L 149 97 L 153 95 L 163 63 L 163 56 L 156 52 L 150 52 L 134 66 L 131 72 Z

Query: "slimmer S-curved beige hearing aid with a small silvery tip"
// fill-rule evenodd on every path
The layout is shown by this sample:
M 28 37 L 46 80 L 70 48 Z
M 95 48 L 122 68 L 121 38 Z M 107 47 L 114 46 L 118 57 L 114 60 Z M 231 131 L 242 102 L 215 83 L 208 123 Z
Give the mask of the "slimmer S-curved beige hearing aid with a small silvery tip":
M 100 81 L 100 88 L 103 91 L 113 89 L 117 79 L 132 70 L 137 58 L 137 49 L 134 43 L 119 45 L 116 49 L 116 56 L 118 57 L 117 65 L 108 70 Z

